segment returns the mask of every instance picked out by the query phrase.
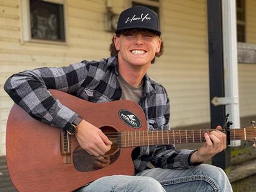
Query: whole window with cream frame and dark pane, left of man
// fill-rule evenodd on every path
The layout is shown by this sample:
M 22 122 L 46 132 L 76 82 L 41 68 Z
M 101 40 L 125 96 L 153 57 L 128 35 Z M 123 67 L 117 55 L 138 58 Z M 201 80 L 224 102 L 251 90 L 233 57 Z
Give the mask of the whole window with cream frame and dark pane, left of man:
M 63 0 L 22 1 L 23 40 L 65 42 Z

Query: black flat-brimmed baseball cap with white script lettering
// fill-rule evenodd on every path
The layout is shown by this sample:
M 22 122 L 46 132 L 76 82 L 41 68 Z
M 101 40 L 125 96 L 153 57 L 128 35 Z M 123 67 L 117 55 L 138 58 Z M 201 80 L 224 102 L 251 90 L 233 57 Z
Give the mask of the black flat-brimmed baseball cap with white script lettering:
M 145 6 L 133 6 L 124 10 L 118 19 L 116 34 L 122 30 L 142 28 L 160 36 L 159 19 L 153 10 Z

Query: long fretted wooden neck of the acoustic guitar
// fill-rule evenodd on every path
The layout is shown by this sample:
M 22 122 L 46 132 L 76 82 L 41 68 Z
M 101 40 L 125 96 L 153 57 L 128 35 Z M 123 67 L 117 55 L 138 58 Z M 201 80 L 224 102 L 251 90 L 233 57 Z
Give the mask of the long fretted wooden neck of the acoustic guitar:
M 123 131 L 120 132 L 120 147 L 145 145 L 171 145 L 206 142 L 204 133 L 215 129 L 168 130 L 168 131 Z M 220 131 L 224 132 L 223 129 Z M 230 140 L 246 140 L 246 129 L 230 129 Z

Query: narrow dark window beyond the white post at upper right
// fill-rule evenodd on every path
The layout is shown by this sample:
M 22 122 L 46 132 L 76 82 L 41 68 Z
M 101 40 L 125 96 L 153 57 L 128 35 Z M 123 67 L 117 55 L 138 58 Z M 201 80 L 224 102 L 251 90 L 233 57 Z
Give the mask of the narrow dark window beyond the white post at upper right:
M 237 41 L 245 42 L 245 2 L 237 0 Z

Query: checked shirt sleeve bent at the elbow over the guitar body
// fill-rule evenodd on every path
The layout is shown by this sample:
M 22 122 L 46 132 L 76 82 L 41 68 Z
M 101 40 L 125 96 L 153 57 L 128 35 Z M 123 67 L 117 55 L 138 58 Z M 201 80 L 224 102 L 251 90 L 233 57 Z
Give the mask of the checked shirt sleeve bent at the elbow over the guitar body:
M 8 78 L 5 91 L 30 116 L 66 129 L 78 114 L 62 105 L 47 89 L 76 93 L 86 72 L 84 63 L 27 70 Z

